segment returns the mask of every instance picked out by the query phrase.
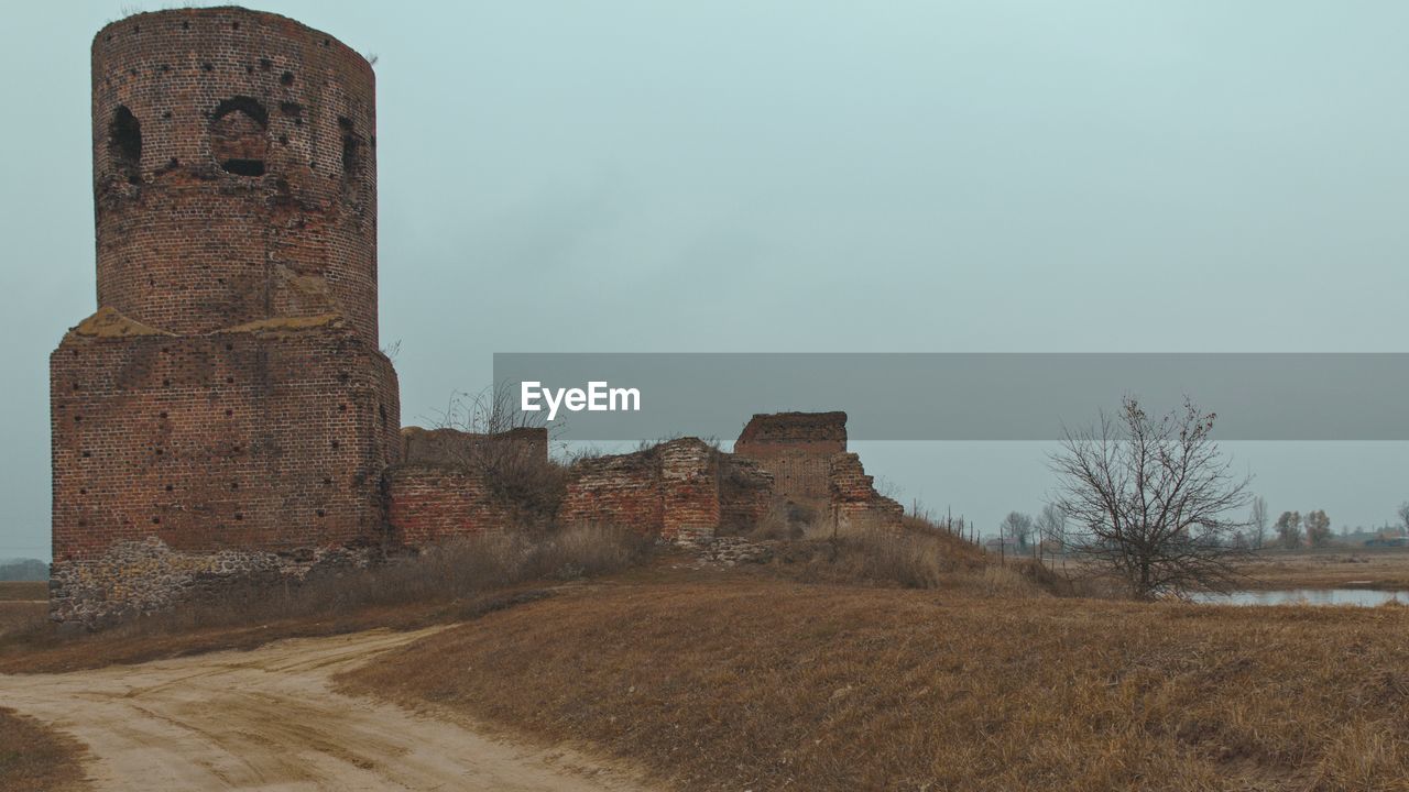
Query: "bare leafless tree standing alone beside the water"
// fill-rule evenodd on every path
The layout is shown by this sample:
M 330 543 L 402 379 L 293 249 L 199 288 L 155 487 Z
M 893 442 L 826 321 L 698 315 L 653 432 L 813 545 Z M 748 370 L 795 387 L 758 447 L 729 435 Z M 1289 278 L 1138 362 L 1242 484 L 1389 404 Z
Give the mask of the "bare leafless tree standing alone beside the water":
M 1251 479 L 1236 476 L 1212 438 L 1213 413 L 1188 399 L 1151 419 L 1126 397 L 1116 419 L 1067 430 L 1050 465 L 1053 503 L 1075 524 L 1072 547 L 1119 576 L 1137 599 L 1227 589 L 1246 550 L 1227 519 L 1247 506 Z

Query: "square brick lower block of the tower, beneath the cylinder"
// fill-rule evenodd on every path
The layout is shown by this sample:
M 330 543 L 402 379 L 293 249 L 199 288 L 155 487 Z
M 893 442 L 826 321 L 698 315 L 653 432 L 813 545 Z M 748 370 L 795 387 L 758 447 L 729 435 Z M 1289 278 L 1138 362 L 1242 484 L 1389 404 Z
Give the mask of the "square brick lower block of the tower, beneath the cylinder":
M 56 564 L 148 536 L 185 552 L 380 538 L 400 407 L 390 362 L 356 333 L 330 318 L 123 334 L 100 317 L 49 358 Z

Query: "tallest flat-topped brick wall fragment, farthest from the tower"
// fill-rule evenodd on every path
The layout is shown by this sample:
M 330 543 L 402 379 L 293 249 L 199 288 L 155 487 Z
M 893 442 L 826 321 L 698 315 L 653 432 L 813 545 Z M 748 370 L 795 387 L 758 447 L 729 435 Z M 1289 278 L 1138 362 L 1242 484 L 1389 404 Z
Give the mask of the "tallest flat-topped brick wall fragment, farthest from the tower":
M 734 443 L 734 454 L 755 459 L 774 476 L 779 497 L 824 502 L 834 454 L 847 450 L 847 413 L 754 416 Z

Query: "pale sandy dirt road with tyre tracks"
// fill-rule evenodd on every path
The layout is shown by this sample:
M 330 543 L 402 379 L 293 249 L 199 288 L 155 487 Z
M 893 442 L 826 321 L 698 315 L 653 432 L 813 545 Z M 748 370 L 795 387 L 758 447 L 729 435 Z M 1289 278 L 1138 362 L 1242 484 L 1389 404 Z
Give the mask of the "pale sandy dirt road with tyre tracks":
M 379 630 L 76 674 L 0 675 L 0 703 L 82 740 L 99 791 L 643 789 L 571 751 L 509 744 L 331 691 L 338 671 L 427 633 Z

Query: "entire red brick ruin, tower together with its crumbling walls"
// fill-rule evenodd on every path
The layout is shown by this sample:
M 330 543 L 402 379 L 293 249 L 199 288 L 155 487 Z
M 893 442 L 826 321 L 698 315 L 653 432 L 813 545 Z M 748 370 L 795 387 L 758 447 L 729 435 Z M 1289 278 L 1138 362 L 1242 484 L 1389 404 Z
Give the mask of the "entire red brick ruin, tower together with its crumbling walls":
M 365 59 L 275 14 L 180 8 L 94 37 L 99 310 L 49 358 L 56 620 L 523 524 L 485 478 L 516 468 L 482 462 L 547 464 L 545 430 L 400 428 L 376 345 L 373 93 Z M 734 454 L 681 438 L 581 461 L 557 521 L 699 544 L 789 500 L 898 520 L 845 421 L 754 416 Z

